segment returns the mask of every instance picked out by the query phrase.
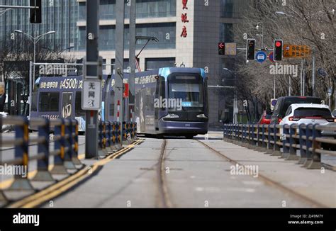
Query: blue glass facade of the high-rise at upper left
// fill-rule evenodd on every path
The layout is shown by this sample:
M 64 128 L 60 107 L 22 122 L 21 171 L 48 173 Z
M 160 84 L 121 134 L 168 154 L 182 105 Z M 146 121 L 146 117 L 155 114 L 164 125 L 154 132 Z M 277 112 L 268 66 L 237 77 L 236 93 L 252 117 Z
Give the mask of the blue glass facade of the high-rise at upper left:
M 28 6 L 26 0 L 0 0 L 1 5 Z M 48 47 L 66 49 L 77 43 L 78 3 L 77 0 L 42 1 L 43 23 L 30 24 L 28 9 L 12 9 L 0 16 L 0 37 L 10 36 L 14 30 L 22 30 L 29 35 L 40 35 L 55 30 L 55 35 L 47 35 Z M 17 36 L 17 35 L 16 35 Z

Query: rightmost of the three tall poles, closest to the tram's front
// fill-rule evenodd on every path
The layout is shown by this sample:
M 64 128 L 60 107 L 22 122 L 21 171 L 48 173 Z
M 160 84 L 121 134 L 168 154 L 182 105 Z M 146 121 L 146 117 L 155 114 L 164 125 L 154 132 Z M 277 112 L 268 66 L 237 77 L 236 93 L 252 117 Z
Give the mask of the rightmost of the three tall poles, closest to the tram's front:
M 135 109 L 135 50 L 136 50 L 136 1 L 130 0 L 130 96 L 128 98 L 128 115 L 134 120 Z M 133 110 L 131 110 L 133 108 Z

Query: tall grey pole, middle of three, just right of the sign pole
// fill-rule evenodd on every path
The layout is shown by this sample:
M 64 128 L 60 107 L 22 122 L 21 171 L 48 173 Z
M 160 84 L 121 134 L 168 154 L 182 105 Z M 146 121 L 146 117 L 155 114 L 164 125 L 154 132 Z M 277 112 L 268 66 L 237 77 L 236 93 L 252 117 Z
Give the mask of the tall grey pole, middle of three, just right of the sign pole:
M 116 75 L 114 84 L 114 118 L 123 124 L 123 51 L 124 51 L 124 1 L 116 1 Z M 131 60 L 131 58 L 130 58 Z M 121 144 L 123 143 L 121 129 Z

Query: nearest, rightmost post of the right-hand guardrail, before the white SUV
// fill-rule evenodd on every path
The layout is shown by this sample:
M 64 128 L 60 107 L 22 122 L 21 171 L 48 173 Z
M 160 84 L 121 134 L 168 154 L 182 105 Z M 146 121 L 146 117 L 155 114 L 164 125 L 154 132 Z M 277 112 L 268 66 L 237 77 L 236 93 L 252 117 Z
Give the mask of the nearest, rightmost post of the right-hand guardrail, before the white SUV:
M 307 161 L 305 167 L 307 169 L 320 169 L 322 167 L 321 164 L 321 154 L 316 152 L 317 149 L 321 149 L 321 143 L 316 140 L 316 138 L 321 137 L 321 131 L 316 129 L 319 126 L 318 124 L 312 125 L 311 127 L 311 135 L 313 140 L 311 140 L 311 159 Z M 310 130 L 310 128 L 308 128 Z

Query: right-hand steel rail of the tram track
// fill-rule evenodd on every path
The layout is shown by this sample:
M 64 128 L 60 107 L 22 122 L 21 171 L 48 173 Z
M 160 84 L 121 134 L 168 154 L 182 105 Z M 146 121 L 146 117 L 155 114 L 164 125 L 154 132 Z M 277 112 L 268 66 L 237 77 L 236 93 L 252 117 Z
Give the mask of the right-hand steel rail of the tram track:
M 201 145 L 203 145 L 204 147 L 208 148 L 209 150 L 211 150 L 211 152 L 214 152 L 215 154 L 217 154 L 218 156 L 224 158 L 225 160 L 227 160 L 228 162 L 232 163 L 232 164 L 238 164 L 240 166 L 244 166 L 244 164 L 240 164 L 239 162 L 235 161 L 234 159 L 231 159 L 230 157 L 226 156 L 225 154 L 223 154 L 222 152 L 219 152 L 218 150 L 215 150 L 213 147 L 207 145 L 205 142 L 202 142 L 201 140 L 196 140 L 197 142 L 199 142 Z M 293 191 L 293 189 L 284 186 L 283 184 L 274 181 L 272 179 L 270 179 L 269 177 L 265 176 L 264 174 L 261 174 L 259 172 L 258 174 L 258 178 L 260 181 L 263 181 L 265 184 L 269 185 L 269 186 L 273 186 L 274 188 L 278 188 L 279 190 L 283 191 L 284 193 L 288 193 L 289 195 L 305 202 L 308 203 L 309 205 L 315 207 L 315 208 L 328 208 L 328 206 L 313 200 L 312 198 L 308 198 L 307 196 L 302 195 L 301 193 L 298 193 L 296 191 Z

